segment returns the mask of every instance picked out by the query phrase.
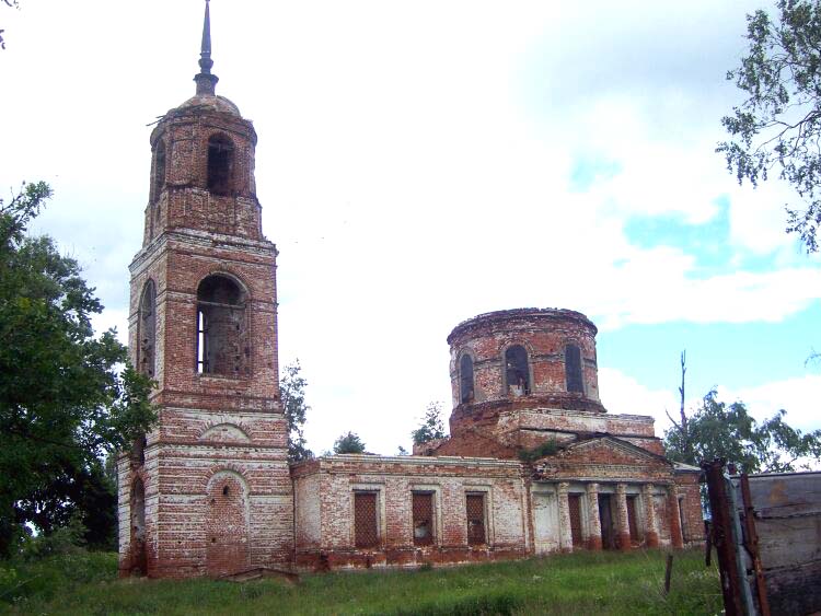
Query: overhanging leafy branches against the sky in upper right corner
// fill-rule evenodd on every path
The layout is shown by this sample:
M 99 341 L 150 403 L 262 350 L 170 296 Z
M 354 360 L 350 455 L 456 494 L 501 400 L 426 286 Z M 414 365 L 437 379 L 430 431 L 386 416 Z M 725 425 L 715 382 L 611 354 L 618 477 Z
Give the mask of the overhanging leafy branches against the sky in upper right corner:
M 775 20 L 762 10 L 747 16 L 748 55 L 727 73 L 747 100 L 721 124 L 732 137 L 717 151 L 739 183 L 753 186 L 773 170 L 798 193 L 787 206 L 787 232 L 818 251 L 821 224 L 821 2 L 778 0 Z

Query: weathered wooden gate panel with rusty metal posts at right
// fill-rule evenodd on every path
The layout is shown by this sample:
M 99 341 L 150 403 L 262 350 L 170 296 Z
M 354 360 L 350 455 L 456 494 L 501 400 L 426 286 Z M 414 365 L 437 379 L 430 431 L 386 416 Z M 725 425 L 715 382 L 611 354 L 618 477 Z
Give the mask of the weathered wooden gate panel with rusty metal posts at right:
M 702 465 L 725 612 L 821 611 L 821 473 L 731 475 Z

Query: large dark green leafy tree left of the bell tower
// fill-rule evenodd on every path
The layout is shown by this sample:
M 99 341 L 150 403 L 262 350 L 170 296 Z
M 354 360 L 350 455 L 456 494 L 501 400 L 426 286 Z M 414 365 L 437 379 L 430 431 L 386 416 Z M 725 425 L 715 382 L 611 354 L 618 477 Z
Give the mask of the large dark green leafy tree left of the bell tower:
M 55 512 L 46 524 L 36 503 L 83 507 L 56 486 L 79 480 L 90 490 L 100 460 L 155 419 L 151 381 L 126 364 L 116 333 L 94 337 L 90 316 L 103 306 L 77 261 L 49 237 L 26 235 L 50 196 L 41 182 L 0 200 L 0 555 L 26 522 L 65 520 Z

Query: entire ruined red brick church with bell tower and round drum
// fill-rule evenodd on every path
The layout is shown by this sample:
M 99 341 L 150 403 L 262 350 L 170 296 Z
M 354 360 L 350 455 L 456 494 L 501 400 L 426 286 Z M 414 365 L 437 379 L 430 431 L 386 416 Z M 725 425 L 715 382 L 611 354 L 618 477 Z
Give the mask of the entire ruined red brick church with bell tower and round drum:
M 199 66 L 196 94 L 151 133 L 130 265 L 130 357 L 157 381 L 159 422 L 118 460 L 123 574 L 410 567 L 702 538 L 698 469 L 664 457 L 652 418 L 605 410 L 595 326 L 568 310 L 456 325 L 449 438 L 409 456 L 289 465 L 257 137 L 215 92 L 207 3 Z

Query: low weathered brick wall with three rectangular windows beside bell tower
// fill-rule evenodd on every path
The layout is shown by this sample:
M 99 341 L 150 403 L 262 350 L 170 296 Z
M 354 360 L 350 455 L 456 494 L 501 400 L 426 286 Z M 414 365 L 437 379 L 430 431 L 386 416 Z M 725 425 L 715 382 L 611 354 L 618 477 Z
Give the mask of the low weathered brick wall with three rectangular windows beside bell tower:
M 517 463 L 338 455 L 299 465 L 293 476 L 301 568 L 469 562 L 524 556 L 529 550 L 527 489 Z M 374 549 L 355 547 L 356 490 L 378 495 L 380 545 Z M 430 546 L 414 545 L 414 490 L 435 495 Z M 467 545 L 467 492 L 486 495 L 488 542 L 482 546 Z

